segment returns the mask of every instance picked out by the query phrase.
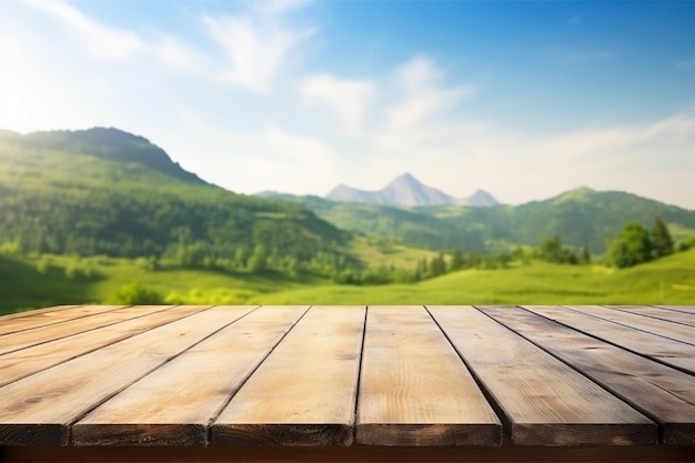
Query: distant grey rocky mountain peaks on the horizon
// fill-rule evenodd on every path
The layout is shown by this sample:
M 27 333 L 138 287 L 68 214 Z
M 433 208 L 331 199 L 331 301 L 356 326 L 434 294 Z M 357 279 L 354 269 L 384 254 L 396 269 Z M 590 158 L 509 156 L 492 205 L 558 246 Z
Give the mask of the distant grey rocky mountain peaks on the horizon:
M 498 204 L 492 194 L 483 190 L 477 190 L 467 198 L 454 198 L 422 183 L 407 172 L 396 177 L 391 183 L 377 191 L 359 190 L 341 183 L 325 199 L 396 207 L 461 204 L 487 208 Z

